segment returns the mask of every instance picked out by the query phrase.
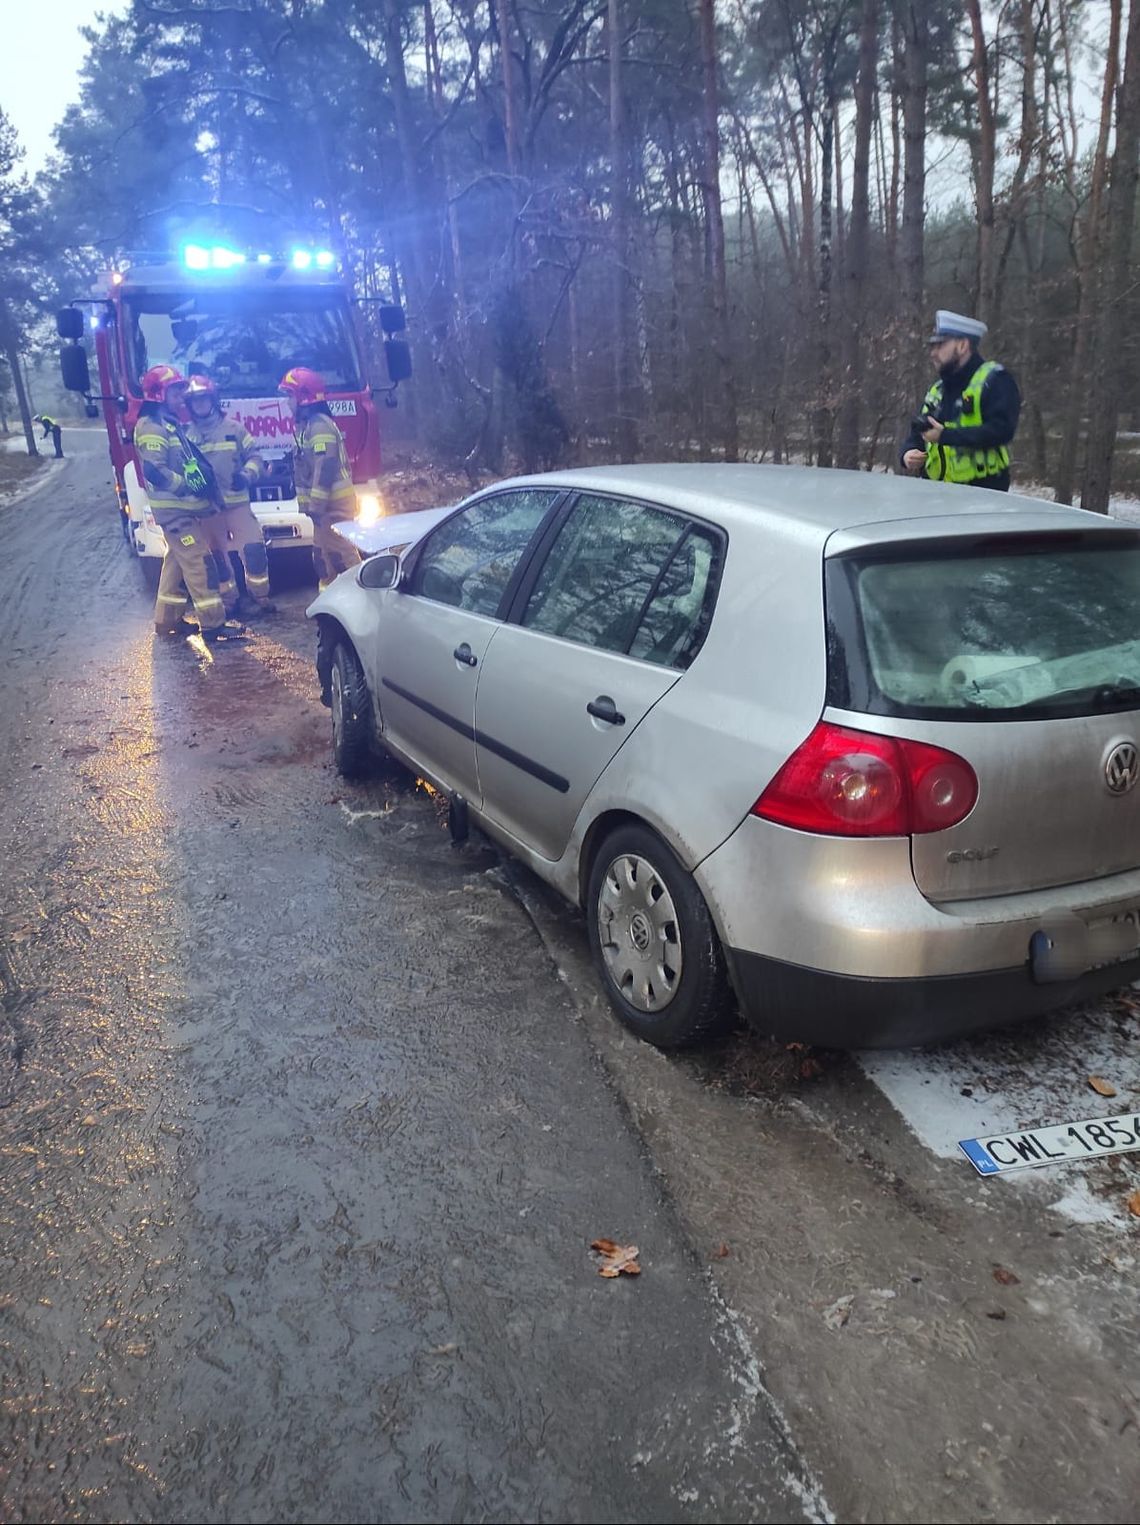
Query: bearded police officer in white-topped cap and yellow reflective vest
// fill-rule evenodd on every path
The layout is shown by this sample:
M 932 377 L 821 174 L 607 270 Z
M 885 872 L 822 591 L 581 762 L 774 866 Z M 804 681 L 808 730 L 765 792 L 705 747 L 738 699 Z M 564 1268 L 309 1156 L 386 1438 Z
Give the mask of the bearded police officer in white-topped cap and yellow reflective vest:
M 930 336 L 937 380 L 911 419 L 899 464 L 910 476 L 1009 491 L 1009 445 L 1021 393 L 997 360 L 983 360 L 986 325 L 939 310 Z

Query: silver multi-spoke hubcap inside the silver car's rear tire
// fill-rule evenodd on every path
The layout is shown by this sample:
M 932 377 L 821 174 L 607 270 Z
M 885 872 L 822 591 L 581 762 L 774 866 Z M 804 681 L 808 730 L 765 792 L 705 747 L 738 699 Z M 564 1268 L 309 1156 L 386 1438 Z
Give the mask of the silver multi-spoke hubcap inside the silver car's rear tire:
M 616 857 L 597 892 L 602 958 L 617 990 L 639 1011 L 663 1011 L 681 981 L 681 932 L 664 880 L 648 859 Z

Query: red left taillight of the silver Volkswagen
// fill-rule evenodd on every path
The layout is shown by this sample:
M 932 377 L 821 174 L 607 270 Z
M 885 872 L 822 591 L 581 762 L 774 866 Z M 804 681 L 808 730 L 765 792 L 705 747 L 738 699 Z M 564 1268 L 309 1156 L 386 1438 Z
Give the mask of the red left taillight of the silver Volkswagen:
M 751 814 L 838 837 L 908 837 L 956 827 L 977 798 L 974 769 L 954 752 L 821 720 Z

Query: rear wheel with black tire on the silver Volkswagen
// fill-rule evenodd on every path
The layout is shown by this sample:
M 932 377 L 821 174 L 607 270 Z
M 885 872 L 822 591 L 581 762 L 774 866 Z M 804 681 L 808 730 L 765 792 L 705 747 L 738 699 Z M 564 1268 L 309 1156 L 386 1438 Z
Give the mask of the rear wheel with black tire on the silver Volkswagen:
M 610 1005 L 639 1039 L 690 1048 L 735 1022 L 716 927 L 692 874 L 648 827 L 599 846 L 587 891 L 590 950 Z

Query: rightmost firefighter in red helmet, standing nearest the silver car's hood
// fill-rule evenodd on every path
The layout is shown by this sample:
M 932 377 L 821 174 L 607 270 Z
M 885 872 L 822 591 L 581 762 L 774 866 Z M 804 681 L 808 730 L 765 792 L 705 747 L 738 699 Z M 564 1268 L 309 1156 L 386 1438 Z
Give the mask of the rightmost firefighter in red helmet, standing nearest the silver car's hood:
M 360 561 L 357 547 L 332 529 L 357 512 L 349 453 L 329 412 L 323 377 L 305 366 L 293 366 L 280 378 L 277 390 L 293 407 L 297 506 L 312 520 L 312 569 L 319 584 L 328 587 Z

